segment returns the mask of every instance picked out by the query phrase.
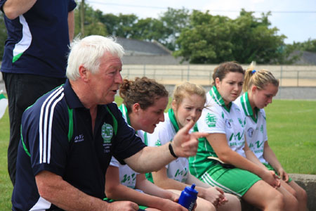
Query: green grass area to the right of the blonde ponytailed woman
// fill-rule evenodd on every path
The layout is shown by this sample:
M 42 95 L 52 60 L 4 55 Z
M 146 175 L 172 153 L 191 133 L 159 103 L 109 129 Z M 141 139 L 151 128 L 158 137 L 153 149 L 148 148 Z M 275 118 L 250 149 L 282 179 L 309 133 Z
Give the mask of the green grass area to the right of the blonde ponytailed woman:
M 265 112 L 269 144 L 284 170 L 316 174 L 316 101 L 275 100 Z

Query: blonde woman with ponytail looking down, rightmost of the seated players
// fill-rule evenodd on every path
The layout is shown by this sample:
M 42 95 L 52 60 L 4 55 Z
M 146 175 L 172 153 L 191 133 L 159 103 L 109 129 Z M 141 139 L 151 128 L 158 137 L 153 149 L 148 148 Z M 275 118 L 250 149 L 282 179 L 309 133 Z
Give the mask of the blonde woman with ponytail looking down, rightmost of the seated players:
M 246 70 L 244 94 L 235 103 L 246 115 L 246 141 L 251 150 L 249 158 L 263 168 L 275 172 L 281 181 L 277 190 L 284 195 L 285 210 L 306 210 L 306 191 L 289 178 L 279 160 L 268 144 L 265 120 L 265 106 L 272 103 L 272 98 L 279 89 L 279 80 L 268 70 L 255 70 L 251 65 Z M 251 155 L 256 155 L 251 158 Z

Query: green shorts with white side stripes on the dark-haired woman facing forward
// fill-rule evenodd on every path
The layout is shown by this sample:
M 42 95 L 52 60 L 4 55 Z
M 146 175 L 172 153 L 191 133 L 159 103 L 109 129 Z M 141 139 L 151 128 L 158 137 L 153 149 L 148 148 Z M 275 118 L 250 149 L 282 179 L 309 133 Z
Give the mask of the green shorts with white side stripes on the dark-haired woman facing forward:
M 226 193 L 232 193 L 242 197 L 257 181 L 261 180 L 256 174 L 239 168 L 225 168 L 219 164 L 213 164 L 209 170 L 199 178 L 206 184 L 222 188 Z

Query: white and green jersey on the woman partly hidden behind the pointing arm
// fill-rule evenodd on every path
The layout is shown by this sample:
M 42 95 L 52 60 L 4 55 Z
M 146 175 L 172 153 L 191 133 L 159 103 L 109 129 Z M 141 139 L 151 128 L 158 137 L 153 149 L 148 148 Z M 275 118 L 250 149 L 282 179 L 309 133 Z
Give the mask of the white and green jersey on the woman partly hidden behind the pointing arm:
M 172 141 L 173 136 L 178 132 L 178 123 L 170 108 L 164 114 L 164 122 L 159 122 L 152 134 L 147 134 L 148 146 L 161 146 Z M 185 183 L 188 177 L 189 162 L 187 158 L 177 158 L 166 165 L 167 176 L 170 179 Z

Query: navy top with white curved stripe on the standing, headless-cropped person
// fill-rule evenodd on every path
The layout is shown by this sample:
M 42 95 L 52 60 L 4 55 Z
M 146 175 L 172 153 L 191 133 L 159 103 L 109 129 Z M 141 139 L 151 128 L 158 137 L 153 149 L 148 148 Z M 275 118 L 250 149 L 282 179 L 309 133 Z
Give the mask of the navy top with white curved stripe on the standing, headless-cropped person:
M 65 77 L 69 47 L 67 18 L 75 7 L 74 0 L 38 0 L 14 20 L 5 16 L 8 38 L 1 71 Z

